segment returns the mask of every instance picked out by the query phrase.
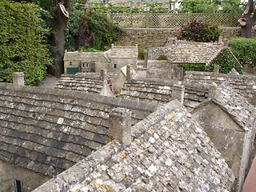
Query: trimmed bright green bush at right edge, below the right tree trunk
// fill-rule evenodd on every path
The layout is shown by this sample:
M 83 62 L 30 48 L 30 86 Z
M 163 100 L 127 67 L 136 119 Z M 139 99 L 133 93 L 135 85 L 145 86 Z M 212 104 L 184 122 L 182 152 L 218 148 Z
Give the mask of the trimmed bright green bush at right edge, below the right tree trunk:
M 232 38 L 228 42 L 232 52 L 242 66 L 256 66 L 256 40 L 252 38 Z

